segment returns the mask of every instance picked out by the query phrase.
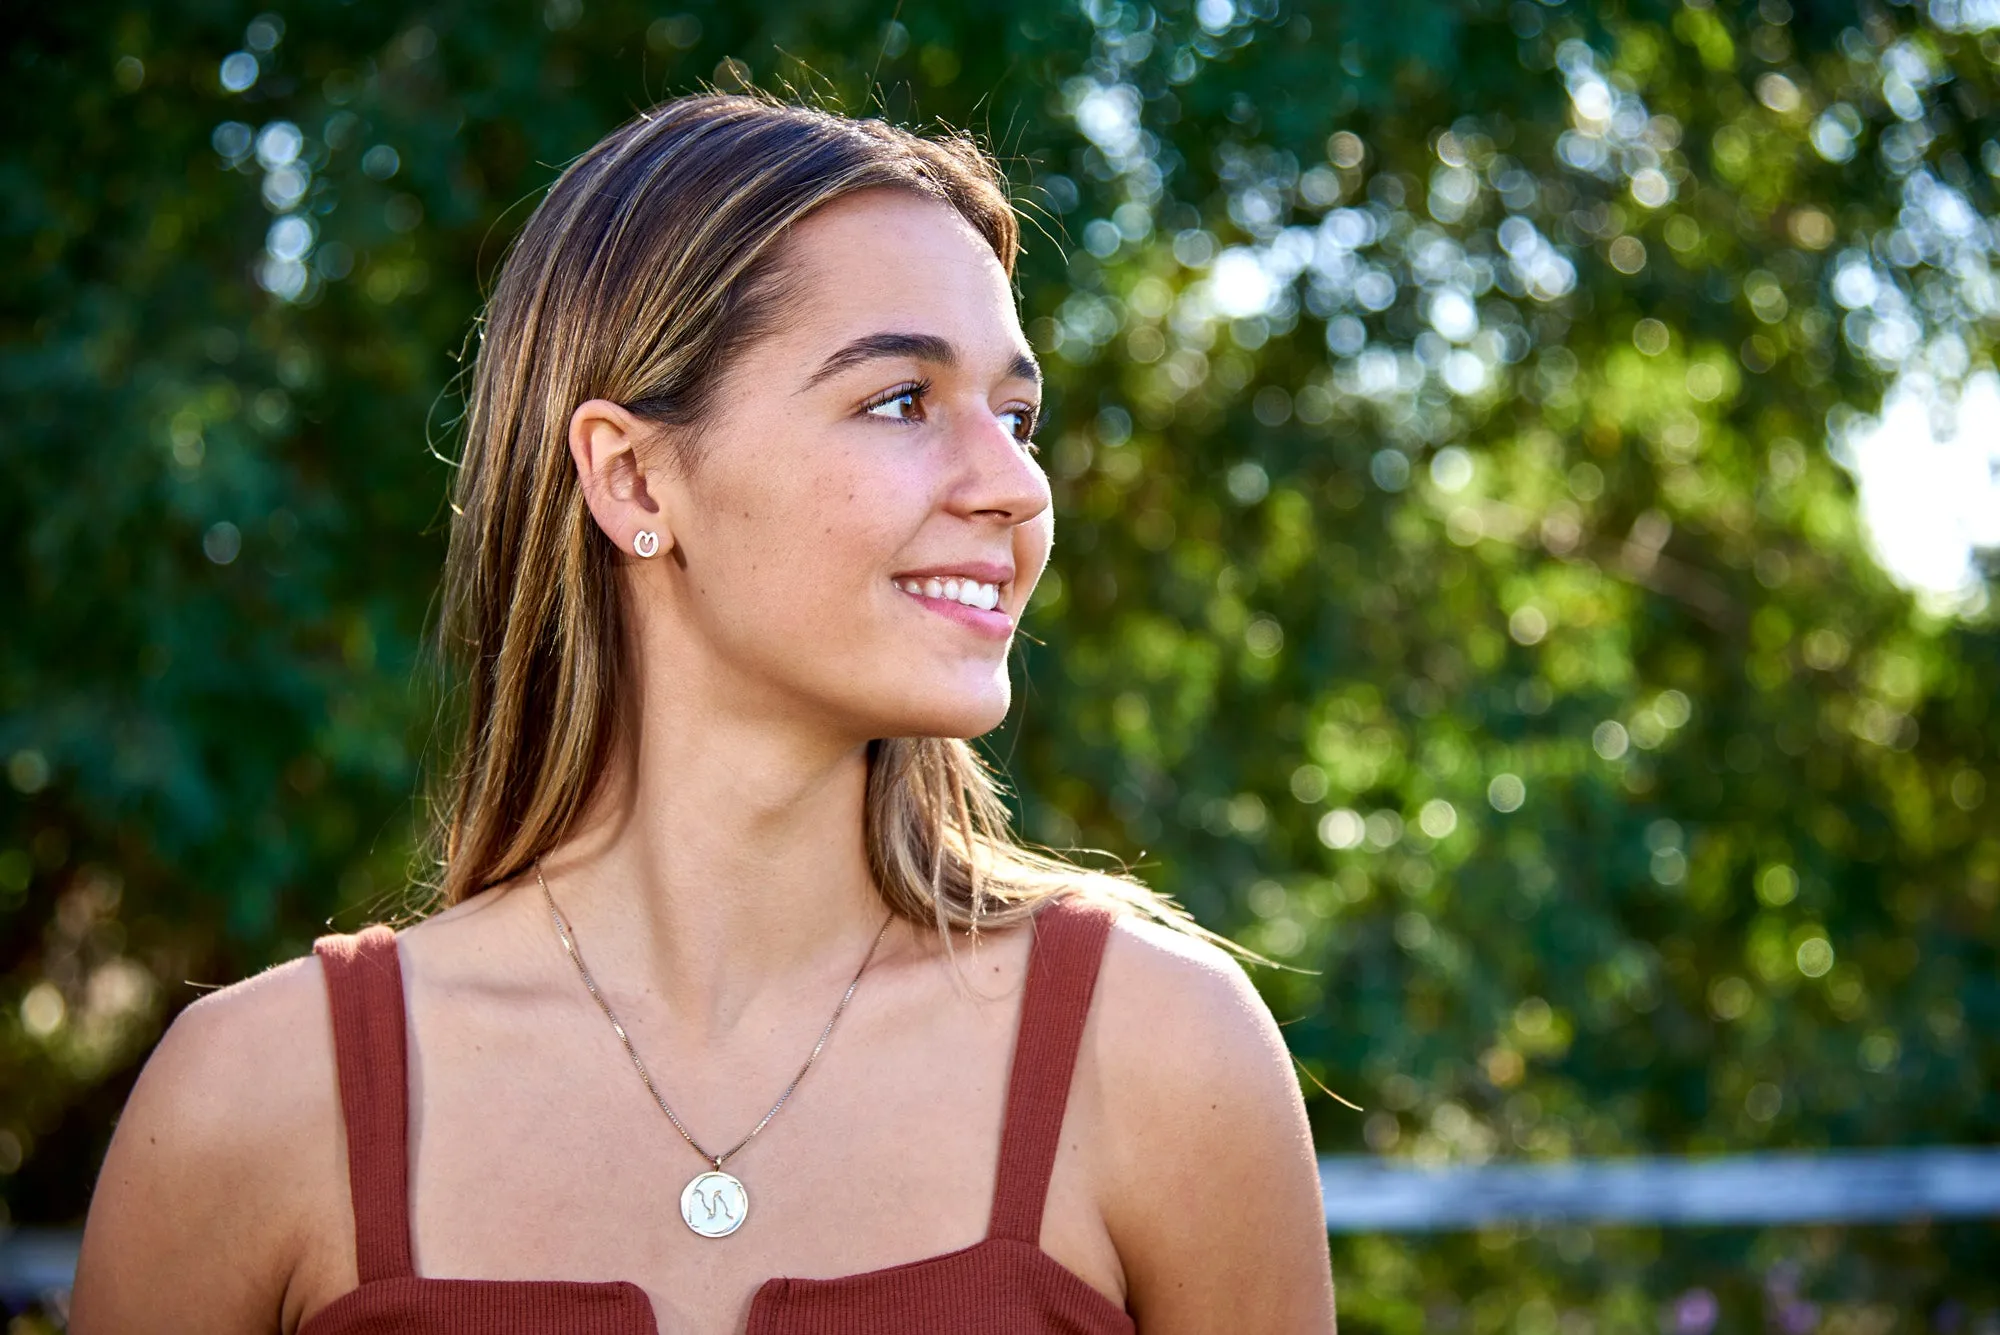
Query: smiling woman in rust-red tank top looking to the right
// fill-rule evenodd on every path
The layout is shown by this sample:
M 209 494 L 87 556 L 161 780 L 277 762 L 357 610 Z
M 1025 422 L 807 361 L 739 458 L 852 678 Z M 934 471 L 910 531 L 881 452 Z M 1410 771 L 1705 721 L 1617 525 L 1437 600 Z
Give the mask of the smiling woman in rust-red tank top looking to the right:
M 448 907 L 174 1021 L 76 1331 L 1332 1329 L 1268 1009 L 962 741 L 1050 548 L 1014 252 L 968 142 L 764 96 L 564 172 L 466 420 Z

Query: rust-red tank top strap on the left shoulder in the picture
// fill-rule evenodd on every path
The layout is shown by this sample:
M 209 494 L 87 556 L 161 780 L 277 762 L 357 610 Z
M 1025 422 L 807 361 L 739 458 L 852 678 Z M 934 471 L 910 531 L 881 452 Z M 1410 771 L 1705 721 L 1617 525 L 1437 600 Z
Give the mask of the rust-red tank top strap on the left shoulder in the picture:
M 340 1115 L 348 1127 L 354 1263 L 362 1283 L 410 1265 L 410 1067 L 396 931 L 376 923 L 312 943 L 334 1013 Z

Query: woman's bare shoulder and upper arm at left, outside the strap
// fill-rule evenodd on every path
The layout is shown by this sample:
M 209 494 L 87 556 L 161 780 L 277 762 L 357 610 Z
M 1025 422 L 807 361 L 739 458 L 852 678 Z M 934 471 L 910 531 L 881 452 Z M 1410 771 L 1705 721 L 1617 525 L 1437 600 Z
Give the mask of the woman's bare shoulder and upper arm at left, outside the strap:
M 140 1071 L 84 1221 L 70 1329 L 266 1335 L 338 1139 L 316 957 L 182 1011 Z

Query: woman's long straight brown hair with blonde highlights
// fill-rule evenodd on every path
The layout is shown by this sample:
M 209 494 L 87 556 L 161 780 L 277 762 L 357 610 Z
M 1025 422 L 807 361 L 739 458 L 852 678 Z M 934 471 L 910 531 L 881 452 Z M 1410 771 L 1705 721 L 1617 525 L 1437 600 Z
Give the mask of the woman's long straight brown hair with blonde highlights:
M 974 140 L 756 90 L 642 112 L 572 162 L 514 238 L 480 318 L 444 568 L 440 648 L 462 669 L 462 729 L 434 801 L 440 903 L 556 847 L 612 755 L 624 624 L 614 548 L 566 446 L 570 414 L 590 398 L 624 404 L 696 442 L 672 458 L 692 468 L 722 372 L 792 300 L 788 228 L 878 186 L 950 204 L 1014 276 L 1006 178 Z M 872 741 L 864 823 L 886 903 L 946 937 L 1080 891 L 1250 955 L 1122 871 L 1016 841 L 994 773 L 958 737 Z

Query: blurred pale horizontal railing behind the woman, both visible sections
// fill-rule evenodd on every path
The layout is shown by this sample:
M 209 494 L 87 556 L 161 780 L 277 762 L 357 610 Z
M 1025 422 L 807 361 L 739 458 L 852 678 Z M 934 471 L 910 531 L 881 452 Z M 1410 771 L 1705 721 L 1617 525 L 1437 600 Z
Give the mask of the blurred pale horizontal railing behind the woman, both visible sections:
M 1414 1167 L 1320 1159 L 1328 1233 L 1444 1233 L 1496 1223 L 1772 1225 L 2000 1219 L 2000 1147 L 1840 1149 L 1714 1159 Z M 62 1293 L 74 1229 L 0 1235 L 0 1299 Z

